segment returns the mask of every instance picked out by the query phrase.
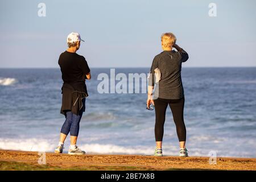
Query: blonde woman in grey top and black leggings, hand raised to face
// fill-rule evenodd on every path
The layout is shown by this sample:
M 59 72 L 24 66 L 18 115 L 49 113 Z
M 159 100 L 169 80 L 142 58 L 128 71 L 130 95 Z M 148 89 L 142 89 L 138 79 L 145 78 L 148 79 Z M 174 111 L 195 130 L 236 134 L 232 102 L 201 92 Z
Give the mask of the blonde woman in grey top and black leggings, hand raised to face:
M 171 107 L 180 142 L 180 156 L 188 156 L 185 148 L 186 128 L 183 118 L 184 89 L 181 81 L 181 63 L 188 60 L 188 53 L 177 46 L 176 37 L 172 33 L 161 36 L 163 52 L 155 56 L 148 81 L 147 107 L 155 106 L 155 156 L 163 156 L 162 140 L 166 109 Z M 175 48 L 177 51 L 172 50 Z M 160 75 L 155 75 L 160 71 Z M 158 78 L 160 76 L 160 78 Z M 155 88 L 154 94 L 153 89 Z

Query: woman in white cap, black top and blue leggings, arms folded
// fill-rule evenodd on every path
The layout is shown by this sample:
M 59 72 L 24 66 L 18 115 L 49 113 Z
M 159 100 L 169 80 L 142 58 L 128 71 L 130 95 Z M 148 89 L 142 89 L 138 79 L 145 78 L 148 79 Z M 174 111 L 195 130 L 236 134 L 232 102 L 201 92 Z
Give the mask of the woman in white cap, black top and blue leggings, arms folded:
M 85 154 L 85 151 L 76 146 L 76 142 L 79 134 L 79 123 L 82 113 L 85 111 L 85 98 L 88 96 L 85 79 L 90 80 L 90 68 L 84 56 L 76 53 L 80 48 L 80 42 L 81 38 L 78 33 L 69 34 L 67 38 L 68 49 L 61 53 L 58 61 L 63 79 L 60 113 L 64 114 L 66 119 L 61 127 L 60 142 L 55 153 L 63 152 L 64 141 L 70 133 L 71 145 L 68 154 Z

